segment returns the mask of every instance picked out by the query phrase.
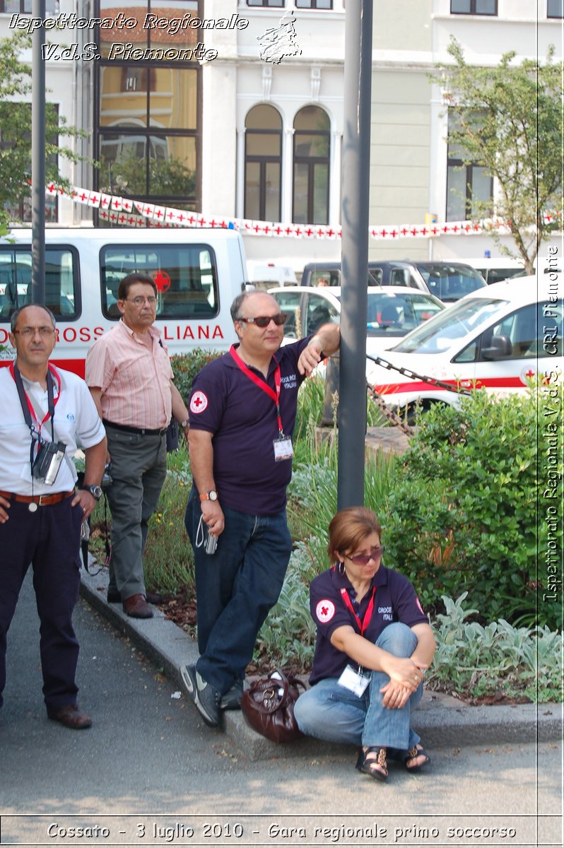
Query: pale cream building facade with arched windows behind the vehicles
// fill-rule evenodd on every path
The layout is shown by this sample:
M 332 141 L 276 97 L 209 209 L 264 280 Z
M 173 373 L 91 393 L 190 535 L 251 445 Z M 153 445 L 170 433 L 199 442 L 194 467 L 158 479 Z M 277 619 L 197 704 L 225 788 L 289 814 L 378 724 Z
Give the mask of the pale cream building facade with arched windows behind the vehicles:
M 339 259 L 345 0 L 55 3 L 47 0 L 48 14 L 68 17 L 47 32 L 58 45 L 46 59 L 47 98 L 88 131 L 81 153 L 100 163 L 63 165 L 73 184 L 208 218 L 318 225 L 329 237 L 249 235 L 248 258 L 295 271 Z M 0 37 L 29 4 L 0 0 Z M 562 0 L 374 0 L 371 225 L 460 220 L 468 182 L 477 196 L 495 196 L 483 170 L 457 166 L 444 92 L 430 81 L 452 36 L 468 64 L 498 64 L 509 50 L 542 58 L 550 44 L 561 59 Z M 62 58 L 69 44 L 80 60 Z M 64 198 L 53 217 L 98 223 L 96 210 Z M 468 258 L 488 249 L 495 255 L 488 237 L 444 236 L 371 239 L 369 253 Z

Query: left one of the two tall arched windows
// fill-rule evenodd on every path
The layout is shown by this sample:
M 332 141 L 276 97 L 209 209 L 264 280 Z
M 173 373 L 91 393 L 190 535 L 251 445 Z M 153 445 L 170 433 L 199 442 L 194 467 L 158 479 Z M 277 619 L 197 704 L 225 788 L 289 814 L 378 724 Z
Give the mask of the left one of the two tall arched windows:
M 280 220 L 282 118 L 254 106 L 245 120 L 245 218 Z

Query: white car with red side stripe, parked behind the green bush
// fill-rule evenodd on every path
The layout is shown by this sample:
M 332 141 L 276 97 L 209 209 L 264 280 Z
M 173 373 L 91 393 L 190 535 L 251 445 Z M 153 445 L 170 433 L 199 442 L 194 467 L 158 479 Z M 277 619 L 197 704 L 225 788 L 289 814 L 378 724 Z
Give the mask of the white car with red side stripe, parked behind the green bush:
M 408 410 L 416 401 L 423 409 L 437 402 L 459 404 L 459 394 L 421 377 L 500 394 L 524 391 L 538 374 L 545 383 L 560 382 L 563 290 L 564 278 L 554 273 L 467 294 L 382 354 L 415 377 L 373 365 L 369 380 L 388 404 Z

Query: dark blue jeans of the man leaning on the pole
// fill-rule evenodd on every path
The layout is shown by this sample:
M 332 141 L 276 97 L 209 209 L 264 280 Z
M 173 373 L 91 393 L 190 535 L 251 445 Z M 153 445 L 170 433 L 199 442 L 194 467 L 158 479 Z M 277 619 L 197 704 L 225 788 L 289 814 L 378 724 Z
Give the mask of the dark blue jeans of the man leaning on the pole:
M 202 511 L 194 489 L 185 523 L 196 564 L 197 669 L 223 694 L 245 676 L 257 633 L 280 595 L 292 538 L 286 510 L 275 516 L 222 510 L 225 529 L 215 554 L 195 544 Z

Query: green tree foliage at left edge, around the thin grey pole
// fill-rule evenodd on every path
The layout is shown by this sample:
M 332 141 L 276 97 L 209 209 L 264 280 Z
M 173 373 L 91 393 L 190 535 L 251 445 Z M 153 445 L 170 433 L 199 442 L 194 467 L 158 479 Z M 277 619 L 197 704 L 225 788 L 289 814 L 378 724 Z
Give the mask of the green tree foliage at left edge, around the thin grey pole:
M 8 208 L 17 207 L 30 192 L 31 66 L 20 59 L 22 51 L 29 47 L 31 37 L 23 31 L 0 39 L 0 235 L 8 231 L 11 218 Z M 47 181 L 68 186 L 68 181 L 59 173 L 59 157 L 77 162 L 81 156 L 69 147 L 60 146 L 60 139 L 86 135 L 68 126 L 53 103 L 46 103 Z

